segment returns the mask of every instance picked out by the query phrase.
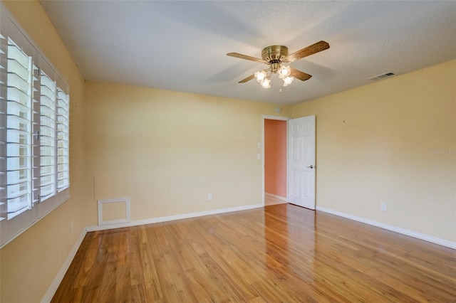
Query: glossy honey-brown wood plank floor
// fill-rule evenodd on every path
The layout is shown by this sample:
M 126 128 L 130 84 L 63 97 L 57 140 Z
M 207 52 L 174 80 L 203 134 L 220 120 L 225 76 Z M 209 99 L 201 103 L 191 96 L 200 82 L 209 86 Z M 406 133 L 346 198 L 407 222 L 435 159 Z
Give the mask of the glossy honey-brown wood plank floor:
M 280 204 L 88 233 L 52 302 L 456 302 L 456 250 Z

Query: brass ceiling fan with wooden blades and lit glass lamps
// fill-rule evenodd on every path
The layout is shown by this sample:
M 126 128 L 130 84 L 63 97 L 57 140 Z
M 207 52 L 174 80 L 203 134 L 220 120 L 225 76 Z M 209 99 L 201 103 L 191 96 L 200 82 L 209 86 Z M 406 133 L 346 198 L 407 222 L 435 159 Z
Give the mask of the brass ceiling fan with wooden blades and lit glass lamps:
M 262 87 L 269 88 L 271 87 L 269 83 L 271 82 L 272 74 L 278 74 L 279 78 L 284 80 L 284 86 L 291 84 L 294 78 L 298 78 L 301 81 L 309 80 L 312 77 L 311 75 L 301 72 L 301 70 L 291 68 L 289 65 L 285 66 L 285 63 L 294 62 L 328 48 L 329 44 L 326 41 L 320 41 L 311 46 L 307 46 L 306 48 L 302 48 L 301 50 L 297 50 L 290 55 L 288 54 L 288 48 L 286 46 L 267 46 L 261 51 L 262 59 L 249 55 L 242 55 L 241 53 L 227 53 L 227 55 L 269 65 L 269 68 L 259 70 L 253 75 L 249 75 L 249 77 L 239 81 L 239 83 L 246 83 L 247 81 L 256 78 Z

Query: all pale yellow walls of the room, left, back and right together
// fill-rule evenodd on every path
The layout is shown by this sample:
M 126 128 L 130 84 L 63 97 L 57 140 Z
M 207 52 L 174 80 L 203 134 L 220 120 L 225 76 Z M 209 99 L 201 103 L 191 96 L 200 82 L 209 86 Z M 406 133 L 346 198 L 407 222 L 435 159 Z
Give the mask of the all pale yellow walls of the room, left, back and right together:
M 274 105 L 85 85 L 38 1 L 5 4 L 71 87 L 71 199 L 0 250 L 1 302 L 41 300 L 96 224 L 98 198 L 130 196 L 132 220 L 261 202 L 257 142 Z M 317 206 L 456 242 L 456 155 L 431 152 L 456 148 L 455 70 L 453 61 L 285 108 L 317 116 Z

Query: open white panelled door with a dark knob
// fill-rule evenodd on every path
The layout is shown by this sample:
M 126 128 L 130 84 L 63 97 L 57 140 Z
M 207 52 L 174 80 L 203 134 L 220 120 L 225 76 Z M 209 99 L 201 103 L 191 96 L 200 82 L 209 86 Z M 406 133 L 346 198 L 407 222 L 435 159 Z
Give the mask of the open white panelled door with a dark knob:
M 288 121 L 288 201 L 315 209 L 315 116 Z

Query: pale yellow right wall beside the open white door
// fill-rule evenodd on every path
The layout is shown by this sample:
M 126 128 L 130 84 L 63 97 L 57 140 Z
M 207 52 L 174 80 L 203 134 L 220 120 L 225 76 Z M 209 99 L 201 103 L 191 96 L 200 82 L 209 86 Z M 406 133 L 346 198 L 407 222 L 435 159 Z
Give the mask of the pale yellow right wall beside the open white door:
M 316 205 L 456 242 L 455 84 L 451 61 L 294 106 L 316 115 Z

